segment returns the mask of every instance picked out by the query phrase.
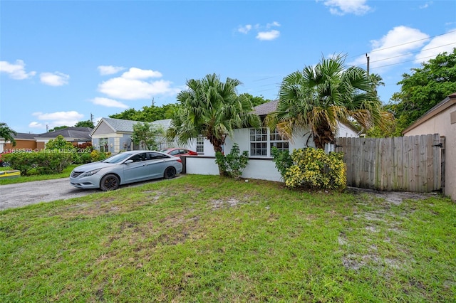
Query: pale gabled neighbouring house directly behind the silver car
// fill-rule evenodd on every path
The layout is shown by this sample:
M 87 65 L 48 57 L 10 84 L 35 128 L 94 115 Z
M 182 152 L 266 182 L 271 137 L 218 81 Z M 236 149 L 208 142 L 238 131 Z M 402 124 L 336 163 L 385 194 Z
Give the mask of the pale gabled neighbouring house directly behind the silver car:
M 171 119 L 163 119 L 151 122 L 167 129 L 170 127 Z M 118 154 L 120 151 L 139 149 L 133 144 L 133 125 L 142 123 L 140 121 L 102 118 L 92 131 L 92 146 L 99 151 Z M 166 143 L 161 144 L 160 148 L 167 147 Z

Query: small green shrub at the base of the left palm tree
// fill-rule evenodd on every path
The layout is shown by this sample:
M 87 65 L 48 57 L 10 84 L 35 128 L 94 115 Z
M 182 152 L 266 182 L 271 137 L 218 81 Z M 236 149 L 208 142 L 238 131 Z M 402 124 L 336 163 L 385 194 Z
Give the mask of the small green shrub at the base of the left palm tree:
M 215 154 L 215 163 L 219 165 L 227 176 L 239 179 L 242 176 L 242 171 L 249 164 L 249 152 L 242 151 L 242 154 L 240 154 L 239 145 L 235 143 L 227 156 L 217 151 Z

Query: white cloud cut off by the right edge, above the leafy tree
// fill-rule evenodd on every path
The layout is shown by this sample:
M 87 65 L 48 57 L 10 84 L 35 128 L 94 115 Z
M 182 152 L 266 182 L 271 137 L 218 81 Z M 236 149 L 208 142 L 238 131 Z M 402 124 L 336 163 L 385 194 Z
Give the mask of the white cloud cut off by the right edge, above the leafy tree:
M 444 35 L 431 39 L 425 47 L 415 55 L 415 63 L 423 63 L 437 57 L 440 53 L 452 53 L 456 47 L 456 28 L 448 31 Z

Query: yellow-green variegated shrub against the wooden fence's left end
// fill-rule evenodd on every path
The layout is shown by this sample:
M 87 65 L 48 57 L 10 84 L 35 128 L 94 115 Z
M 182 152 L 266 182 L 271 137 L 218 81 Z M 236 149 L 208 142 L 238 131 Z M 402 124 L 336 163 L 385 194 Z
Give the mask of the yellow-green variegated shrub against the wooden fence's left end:
M 336 189 L 346 187 L 346 166 L 343 154 L 323 149 L 294 149 L 290 158 L 283 153 L 273 153 L 274 163 L 291 188 Z M 290 162 L 291 159 L 291 162 Z

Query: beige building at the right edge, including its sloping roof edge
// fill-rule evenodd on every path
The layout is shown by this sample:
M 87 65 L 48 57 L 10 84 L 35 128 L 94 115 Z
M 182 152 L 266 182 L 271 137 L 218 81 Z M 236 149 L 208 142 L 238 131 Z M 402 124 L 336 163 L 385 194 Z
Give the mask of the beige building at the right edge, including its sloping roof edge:
M 403 131 L 404 136 L 420 134 L 445 136 L 445 195 L 456 201 L 456 92 Z

